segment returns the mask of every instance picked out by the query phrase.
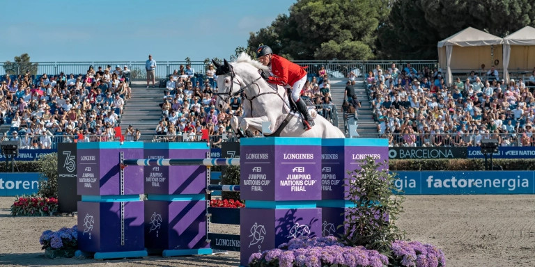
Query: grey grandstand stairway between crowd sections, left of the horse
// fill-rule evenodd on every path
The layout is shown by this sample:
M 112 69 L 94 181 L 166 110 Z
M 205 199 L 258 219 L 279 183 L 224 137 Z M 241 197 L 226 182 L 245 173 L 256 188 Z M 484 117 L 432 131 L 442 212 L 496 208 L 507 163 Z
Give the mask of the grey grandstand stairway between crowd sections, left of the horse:
M 141 131 L 141 140 L 150 140 L 162 118 L 162 108 L 158 104 L 162 103 L 164 88 L 146 88 L 144 81 L 132 82 L 131 88 L 132 98 L 125 105 L 121 128 L 124 131 L 132 124 Z

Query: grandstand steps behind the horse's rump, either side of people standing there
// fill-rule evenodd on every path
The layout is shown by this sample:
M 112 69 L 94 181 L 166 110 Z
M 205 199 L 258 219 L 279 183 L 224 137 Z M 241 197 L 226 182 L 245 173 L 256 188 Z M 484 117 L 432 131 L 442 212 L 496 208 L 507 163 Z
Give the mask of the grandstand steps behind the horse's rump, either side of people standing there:
M 343 131 L 343 96 L 346 90 L 347 79 L 329 79 L 331 83 L 332 102 L 336 105 L 338 111 L 339 128 Z M 355 83 L 355 94 L 361 102 L 361 108 L 357 111 L 358 125 L 357 133 L 361 138 L 378 138 L 377 123 L 373 120 L 373 111 L 370 101 L 364 88 L 364 80 L 357 79 Z

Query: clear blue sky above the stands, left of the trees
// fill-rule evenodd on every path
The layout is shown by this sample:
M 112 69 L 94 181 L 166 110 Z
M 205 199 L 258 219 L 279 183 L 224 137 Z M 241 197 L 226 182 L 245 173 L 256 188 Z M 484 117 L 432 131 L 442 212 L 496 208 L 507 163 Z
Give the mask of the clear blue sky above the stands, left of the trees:
M 228 58 L 293 3 L 2 1 L 0 61 L 23 53 L 40 62 Z

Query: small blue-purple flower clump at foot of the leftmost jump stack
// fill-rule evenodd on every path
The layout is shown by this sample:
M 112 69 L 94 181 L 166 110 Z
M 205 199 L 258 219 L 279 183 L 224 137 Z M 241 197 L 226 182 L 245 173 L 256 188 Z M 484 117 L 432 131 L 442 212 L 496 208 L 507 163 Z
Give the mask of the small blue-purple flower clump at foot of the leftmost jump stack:
M 78 227 L 75 225 L 72 228 L 63 227 L 56 232 L 42 232 L 39 243 L 49 258 L 74 257 L 78 248 Z

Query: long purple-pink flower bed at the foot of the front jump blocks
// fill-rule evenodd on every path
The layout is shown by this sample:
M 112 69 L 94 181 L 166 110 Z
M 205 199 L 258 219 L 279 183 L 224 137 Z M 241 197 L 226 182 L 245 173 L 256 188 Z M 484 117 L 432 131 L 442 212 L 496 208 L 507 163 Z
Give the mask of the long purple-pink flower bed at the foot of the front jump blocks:
M 419 242 L 395 241 L 392 257 L 368 250 L 363 246 L 345 246 L 334 236 L 309 238 L 302 236 L 284 243 L 274 250 L 254 253 L 249 266 L 280 267 L 383 267 L 383 266 L 445 266 L 444 253 L 433 245 Z

